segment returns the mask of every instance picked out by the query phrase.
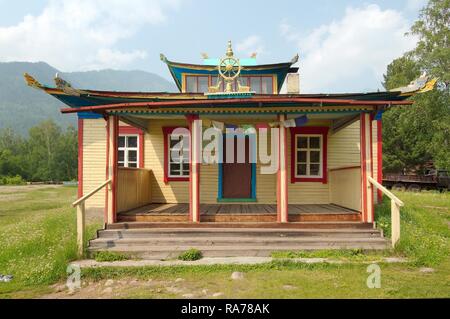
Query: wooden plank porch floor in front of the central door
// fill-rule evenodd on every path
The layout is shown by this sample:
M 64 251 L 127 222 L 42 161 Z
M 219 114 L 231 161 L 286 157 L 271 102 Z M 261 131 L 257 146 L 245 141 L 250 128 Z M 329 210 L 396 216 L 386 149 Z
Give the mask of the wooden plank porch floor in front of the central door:
M 360 221 L 361 213 L 333 204 L 288 206 L 289 221 Z M 119 213 L 119 221 L 188 221 L 189 204 L 150 204 Z M 203 222 L 276 222 L 277 206 L 270 204 L 201 204 Z

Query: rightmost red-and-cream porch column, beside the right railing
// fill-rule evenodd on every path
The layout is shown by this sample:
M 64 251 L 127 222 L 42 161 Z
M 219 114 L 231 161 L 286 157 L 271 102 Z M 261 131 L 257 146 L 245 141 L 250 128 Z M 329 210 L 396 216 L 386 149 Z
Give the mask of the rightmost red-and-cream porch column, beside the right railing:
M 367 177 L 373 177 L 372 156 L 372 119 L 369 113 L 360 115 L 360 145 L 361 145 L 361 212 L 363 222 L 372 223 L 373 186 Z

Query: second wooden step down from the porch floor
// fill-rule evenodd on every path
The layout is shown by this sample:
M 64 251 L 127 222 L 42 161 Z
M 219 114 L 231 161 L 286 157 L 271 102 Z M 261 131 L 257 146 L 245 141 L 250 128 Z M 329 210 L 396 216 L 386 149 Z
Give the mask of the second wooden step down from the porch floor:
M 237 228 L 237 229 L 186 229 L 186 228 L 136 228 L 136 229 L 106 229 L 98 232 L 99 238 L 177 238 L 177 237 L 197 237 L 197 238 L 216 238 L 216 237 L 381 237 L 381 232 L 376 229 L 255 229 L 255 228 Z

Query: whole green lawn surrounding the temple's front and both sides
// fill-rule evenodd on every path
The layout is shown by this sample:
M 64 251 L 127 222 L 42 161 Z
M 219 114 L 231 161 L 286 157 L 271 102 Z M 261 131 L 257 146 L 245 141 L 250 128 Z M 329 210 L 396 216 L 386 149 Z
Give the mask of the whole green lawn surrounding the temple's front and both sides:
M 0 187 L 0 298 L 398 298 L 450 297 L 450 194 L 397 195 L 401 241 L 395 251 L 291 252 L 278 257 L 330 257 L 356 263 L 298 264 L 275 261 L 248 266 L 174 266 L 83 270 L 83 288 L 55 292 L 76 257 L 73 187 Z M 377 223 L 389 235 L 389 203 L 377 208 Z M 91 236 L 101 221 L 91 220 Z M 404 264 L 381 263 L 381 288 L 366 285 L 367 264 L 380 256 L 407 257 Z M 427 267 L 427 268 L 424 268 Z M 241 280 L 231 273 L 244 273 Z

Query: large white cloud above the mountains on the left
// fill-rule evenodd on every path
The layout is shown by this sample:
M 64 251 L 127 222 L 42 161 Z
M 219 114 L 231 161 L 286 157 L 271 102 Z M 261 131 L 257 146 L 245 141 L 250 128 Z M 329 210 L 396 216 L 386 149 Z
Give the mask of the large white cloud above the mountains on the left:
M 181 0 L 180 0 L 181 1 Z M 167 20 L 178 0 L 51 0 L 36 16 L 0 27 L 0 61 L 45 61 L 64 71 L 120 68 L 145 51 L 117 45 Z

